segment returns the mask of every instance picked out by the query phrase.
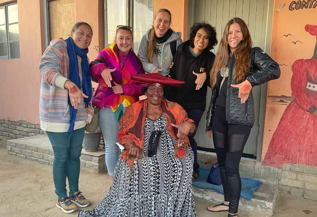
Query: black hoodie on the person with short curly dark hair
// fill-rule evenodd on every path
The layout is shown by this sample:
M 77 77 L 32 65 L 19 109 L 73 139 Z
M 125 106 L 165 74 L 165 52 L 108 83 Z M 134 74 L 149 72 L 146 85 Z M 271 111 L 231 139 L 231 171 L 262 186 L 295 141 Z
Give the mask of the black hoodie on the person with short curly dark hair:
M 189 51 L 189 40 L 180 44 L 173 56 L 169 70 L 169 77 L 184 81 L 185 84 L 180 87 L 169 86 L 166 98 L 172 102 L 177 102 L 185 110 L 199 109 L 204 111 L 206 107 L 207 85 L 210 86 L 209 72 L 214 62 L 215 54 L 208 49 L 197 57 Z M 196 90 L 196 73 L 207 73 L 206 81 L 202 88 Z

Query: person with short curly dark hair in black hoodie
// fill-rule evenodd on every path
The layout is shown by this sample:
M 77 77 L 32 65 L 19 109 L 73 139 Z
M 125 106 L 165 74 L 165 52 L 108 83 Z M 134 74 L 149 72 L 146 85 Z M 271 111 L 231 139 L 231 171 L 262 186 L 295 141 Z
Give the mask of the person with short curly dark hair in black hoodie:
M 215 54 L 210 51 L 218 43 L 216 30 L 208 23 L 194 23 L 190 29 L 190 39 L 178 46 L 169 70 L 169 77 L 184 81 L 181 87 L 170 87 L 166 98 L 177 102 L 193 119 L 196 128 L 206 107 L 209 73 Z M 196 131 L 189 135 L 194 152 L 193 180 L 198 176 Z

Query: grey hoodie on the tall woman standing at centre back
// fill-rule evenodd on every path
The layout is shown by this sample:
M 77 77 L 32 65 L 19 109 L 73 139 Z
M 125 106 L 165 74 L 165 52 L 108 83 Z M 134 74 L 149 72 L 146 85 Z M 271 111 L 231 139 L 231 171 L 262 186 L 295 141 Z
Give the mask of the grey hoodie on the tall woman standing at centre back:
M 140 61 L 142 62 L 143 69 L 146 73 L 152 73 L 156 68 L 163 69 L 159 73 L 163 76 L 168 75 L 168 69 L 171 65 L 171 62 L 173 61 L 173 55 L 171 53 L 171 46 L 170 43 L 172 41 L 176 42 L 176 48 L 178 45 L 183 43 L 181 36 L 181 32 L 174 32 L 172 35 L 167 39 L 165 43 L 159 44 L 156 42 L 156 50 L 154 50 L 153 59 L 152 62 L 148 62 L 147 60 L 147 46 L 149 43 L 149 37 L 150 37 L 151 29 L 147 30 L 146 34 L 141 39 L 138 57 Z M 164 44 L 164 47 L 163 47 Z M 163 50 L 163 52 L 162 52 Z M 163 53 L 163 55 L 161 55 Z

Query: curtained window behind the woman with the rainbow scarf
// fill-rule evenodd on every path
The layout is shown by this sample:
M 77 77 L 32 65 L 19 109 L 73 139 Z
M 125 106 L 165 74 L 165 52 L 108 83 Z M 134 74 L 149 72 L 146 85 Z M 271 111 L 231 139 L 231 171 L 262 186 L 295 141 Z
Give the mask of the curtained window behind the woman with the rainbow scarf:
M 153 0 L 105 0 L 107 7 L 106 47 L 113 43 L 117 25 L 133 30 L 133 50 L 137 54 L 142 36 L 152 27 Z

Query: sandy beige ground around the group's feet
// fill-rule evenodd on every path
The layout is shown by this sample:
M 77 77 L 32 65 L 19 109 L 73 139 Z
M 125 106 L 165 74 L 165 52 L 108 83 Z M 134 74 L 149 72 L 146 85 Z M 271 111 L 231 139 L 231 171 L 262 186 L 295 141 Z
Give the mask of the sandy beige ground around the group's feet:
M 39 217 L 77 216 L 64 214 L 55 207 L 56 195 L 52 167 L 17 156 L 7 155 L 6 141 L 0 138 L 0 216 Z M 92 209 L 103 200 L 111 187 L 109 176 L 81 170 L 80 190 L 92 202 Z M 205 201 L 195 200 L 198 217 L 226 217 L 227 213 L 210 213 Z M 240 217 L 261 217 L 239 210 Z M 317 217 L 317 202 L 280 194 L 274 216 Z

